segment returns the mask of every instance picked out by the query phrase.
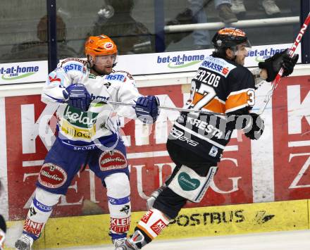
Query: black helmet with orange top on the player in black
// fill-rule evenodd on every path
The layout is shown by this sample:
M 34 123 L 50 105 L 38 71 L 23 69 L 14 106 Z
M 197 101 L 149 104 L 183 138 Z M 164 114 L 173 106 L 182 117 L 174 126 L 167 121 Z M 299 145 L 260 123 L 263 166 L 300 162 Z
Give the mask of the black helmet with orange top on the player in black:
M 212 38 L 212 43 L 216 49 L 231 48 L 238 44 L 245 44 L 251 48 L 245 32 L 236 27 L 223 27 L 218 30 Z

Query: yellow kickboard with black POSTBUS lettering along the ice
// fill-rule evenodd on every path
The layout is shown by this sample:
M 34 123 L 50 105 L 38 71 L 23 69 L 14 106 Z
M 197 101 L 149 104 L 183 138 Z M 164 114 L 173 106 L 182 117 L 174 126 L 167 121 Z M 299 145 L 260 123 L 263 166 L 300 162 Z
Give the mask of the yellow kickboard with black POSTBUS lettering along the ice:
M 144 213 L 132 213 L 130 233 Z M 309 213 L 309 200 L 183 208 L 157 239 L 309 230 Z M 109 244 L 109 220 L 108 214 L 51 218 L 35 249 Z M 22 227 L 23 221 L 8 222 L 11 242 Z

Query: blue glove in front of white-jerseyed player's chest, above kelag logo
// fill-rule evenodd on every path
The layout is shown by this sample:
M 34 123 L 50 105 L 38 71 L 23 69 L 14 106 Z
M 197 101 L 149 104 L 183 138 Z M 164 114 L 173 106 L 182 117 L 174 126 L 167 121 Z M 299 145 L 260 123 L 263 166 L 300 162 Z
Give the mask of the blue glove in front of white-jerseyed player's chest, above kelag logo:
M 63 97 L 67 104 L 75 108 L 80 108 L 82 111 L 87 111 L 90 101 L 92 100 L 86 87 L 79 83 L 66 87 L 66 89 L 63 90 Z

